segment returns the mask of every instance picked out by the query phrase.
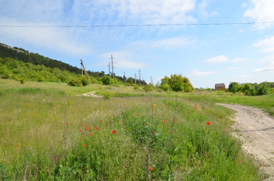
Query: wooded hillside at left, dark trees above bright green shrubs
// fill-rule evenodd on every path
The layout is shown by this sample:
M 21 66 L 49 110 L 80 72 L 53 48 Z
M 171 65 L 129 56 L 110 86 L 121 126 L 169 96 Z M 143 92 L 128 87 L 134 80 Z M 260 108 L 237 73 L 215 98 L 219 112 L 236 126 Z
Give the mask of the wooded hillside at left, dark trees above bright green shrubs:
M 109 81 L 102 81 L 102 78 L 108 76 L 104 71 L 93 72 L 87 70 L 91 83 L 109 84 Z M 11 47 L 0 43 L 0 76 L 6 79 L 18 81 L 38 81 L 38 82 L 64 82 L 69 83 L 72 79 L 82 85 L 88 85 L 87 77 L 82 78 L 82 70 L 76 66 L 53 60 L 51 58 L 32 53 L 28 50 L 18 47 Z M 112 74 L 110 75 L 112 77 Z M 106 79 L 106 78 L 105 78 Z M 109 79 L 108 79 L 109 80 Z M 126 78 L 127 85 L 133 84 L 133 78 Z M 141 82 L 147 85 L 145 81 Z M 112 85 L 125 84 L 125 77 L 116 76 Z M 79 86 L 79 85 L 78 85 Z

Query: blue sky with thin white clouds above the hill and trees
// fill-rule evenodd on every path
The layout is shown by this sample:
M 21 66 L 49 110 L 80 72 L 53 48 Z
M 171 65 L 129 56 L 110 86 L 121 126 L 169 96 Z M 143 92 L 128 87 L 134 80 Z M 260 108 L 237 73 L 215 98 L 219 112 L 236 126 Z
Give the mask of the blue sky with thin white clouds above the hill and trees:
M 273 0 L 0 0 L 0 42 L 78 68 L 81 59 L 105 74 L 113 57 L 115 75 L 153 84 L 171 74 L 194 88 L 274 82 L 273 7 Z

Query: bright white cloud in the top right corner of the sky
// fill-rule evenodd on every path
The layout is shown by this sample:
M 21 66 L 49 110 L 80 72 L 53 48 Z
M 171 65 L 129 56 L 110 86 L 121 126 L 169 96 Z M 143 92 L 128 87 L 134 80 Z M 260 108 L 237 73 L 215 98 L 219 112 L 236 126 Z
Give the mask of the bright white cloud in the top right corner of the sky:
M 249 0 L 251 5 L 245 11 L 243 17 L 252 18 L 255 22 L 270 22 L 273 21 L 274 16 L 274 1 L 273 0 Z M 242 4 L 243 6 L 243 4 Z M 255 18 L 259 17 L 259 18 Z M 258 23 L 254 25 L 258 29 L 266 29 L 273 27 L 273 23 Z

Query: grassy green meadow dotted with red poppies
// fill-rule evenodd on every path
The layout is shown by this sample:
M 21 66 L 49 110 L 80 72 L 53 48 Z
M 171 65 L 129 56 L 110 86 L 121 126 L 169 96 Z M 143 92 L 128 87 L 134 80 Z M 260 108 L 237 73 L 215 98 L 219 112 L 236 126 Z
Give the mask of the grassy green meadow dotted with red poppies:
M 0 79 L 0 180 L 262 180 L 231 129 L 274 95 L 144 92 Z M 81 96 L 97 91 L 110 99 Z

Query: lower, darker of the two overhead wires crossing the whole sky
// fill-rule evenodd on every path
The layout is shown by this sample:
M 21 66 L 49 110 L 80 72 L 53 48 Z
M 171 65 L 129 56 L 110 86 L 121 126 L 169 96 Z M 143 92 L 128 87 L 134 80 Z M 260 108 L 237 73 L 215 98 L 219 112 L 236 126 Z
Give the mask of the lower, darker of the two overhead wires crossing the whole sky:
M 203 24 L 158 24 L 158 25 L 88 25 L 88 26 L 8 26 L 0 25 L 0 27 L 33 27 L 33 28 L 46 28 L 46 27 L 140 27 L 140 26 L 184 26 L 184 25 L 242 25 L 242 24 L 257 24 L 257 23 L 274 23 L 269 22 L 253 22 L 253 23 L 203 23 Z

